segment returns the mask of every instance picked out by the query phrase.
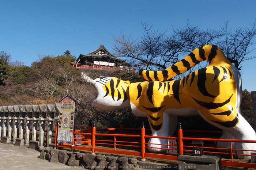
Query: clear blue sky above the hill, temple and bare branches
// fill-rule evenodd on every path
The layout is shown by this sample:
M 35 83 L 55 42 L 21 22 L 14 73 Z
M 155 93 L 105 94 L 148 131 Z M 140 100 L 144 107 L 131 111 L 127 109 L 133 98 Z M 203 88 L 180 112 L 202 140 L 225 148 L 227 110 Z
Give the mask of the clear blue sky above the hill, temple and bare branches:
M 103 44 L 112 52 L 112 35 L 140 37 L 141 22 L 171 34 L 193 26 L 218 30 L 229 20 L 229 28 L 251 27 L 256 19 L 255 0 L 8 0 L 1 1 L 0 51 L 11 61 L 30 66 L 38 55 L 61 55 L 69 50 L 76 58 Z M 256 56 L 256 50 L 251 53 Z M 243 62 L 242 89 L 256 91 L 256 59 Z

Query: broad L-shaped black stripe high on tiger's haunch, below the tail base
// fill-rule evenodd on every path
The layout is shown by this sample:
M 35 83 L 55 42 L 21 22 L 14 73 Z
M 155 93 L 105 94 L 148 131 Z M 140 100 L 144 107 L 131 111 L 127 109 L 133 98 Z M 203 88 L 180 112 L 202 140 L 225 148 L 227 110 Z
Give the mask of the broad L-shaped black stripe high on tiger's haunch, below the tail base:
M 206 83 L 206 70 L 207 68 L 204 67 L 202 69 L 199 69 L 197 74 L 198 74 L 198 79 L 197 79 L 197 87 L 198 87 L 198 90 L 204 95 L 204 96 L 208 96 L 208 97 L 217 97 L 217 96 L 214 96 L 214 95 L 211 95 L 210 93 L 207 92 L 207 89 L 206 89 L 206 86 L 205 86 L 205 83 Z

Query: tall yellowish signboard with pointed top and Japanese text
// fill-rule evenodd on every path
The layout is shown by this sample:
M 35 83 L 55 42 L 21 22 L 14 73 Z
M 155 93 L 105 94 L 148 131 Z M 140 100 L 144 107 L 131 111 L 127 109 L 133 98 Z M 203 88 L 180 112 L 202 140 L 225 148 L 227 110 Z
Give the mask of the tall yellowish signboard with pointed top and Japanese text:
M 75 102 L 76 101 L 70 96 L 66 96 L 60 101 L 60 117 L 57 137 L 57 142 L 59 143 L 73 143 Z

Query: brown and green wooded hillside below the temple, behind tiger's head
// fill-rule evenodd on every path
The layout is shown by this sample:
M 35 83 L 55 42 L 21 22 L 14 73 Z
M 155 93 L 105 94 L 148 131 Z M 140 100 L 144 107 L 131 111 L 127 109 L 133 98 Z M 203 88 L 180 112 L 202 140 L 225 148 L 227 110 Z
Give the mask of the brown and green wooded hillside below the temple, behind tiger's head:
M 8 58 L 8 54 L 5 53 L 4 56 Z M 73 61 L 75 57 L 66 51 L 57 57 L 39 58 L 30 67 L 9 62 L 8 69 L 5 69 L 6 80 L 3 80 L 0 86 L 0 105 L 54 104 L 59 103 L 68 94 L 77 101 L 76 126 L 79 129 L 87 128 L 89 119 L 95 121 L 98 128 L 118 127 L 121 122 L 128 126 L 127 120 L 134 120 L 132 127 L 140 127 L 142 121 L 147 121 L 147 119 L 137 119 L 130 109 L 107 112 L 91 107 L 91 100 L 97 94 L 91 85 L 80 78 L 80 72 L 86 72 L 92 78 L 113 76 L 134 81 L 139 78 L 136 73 L 79 70 L 70 66 Z

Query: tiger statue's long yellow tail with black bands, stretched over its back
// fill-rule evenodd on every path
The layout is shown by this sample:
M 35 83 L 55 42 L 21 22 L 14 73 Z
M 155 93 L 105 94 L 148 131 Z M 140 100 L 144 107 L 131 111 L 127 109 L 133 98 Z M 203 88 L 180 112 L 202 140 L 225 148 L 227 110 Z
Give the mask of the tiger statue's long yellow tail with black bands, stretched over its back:
M 206 45 L 199 47 L 192 51 L 188 56 L 183 58 L 181 61 L 168 67 L 162 71 L 148 71 L 146 69 L 140 69 L 140 77 L 147 81 L 168 81 L 176 75 L 187 72 L 197 63 L 208 60 L 210 65 L 218 66 L 222 62 L 228 62 L 223 51 L 215 45 Z M 231 65 L 231 63 L 230 63 Z

